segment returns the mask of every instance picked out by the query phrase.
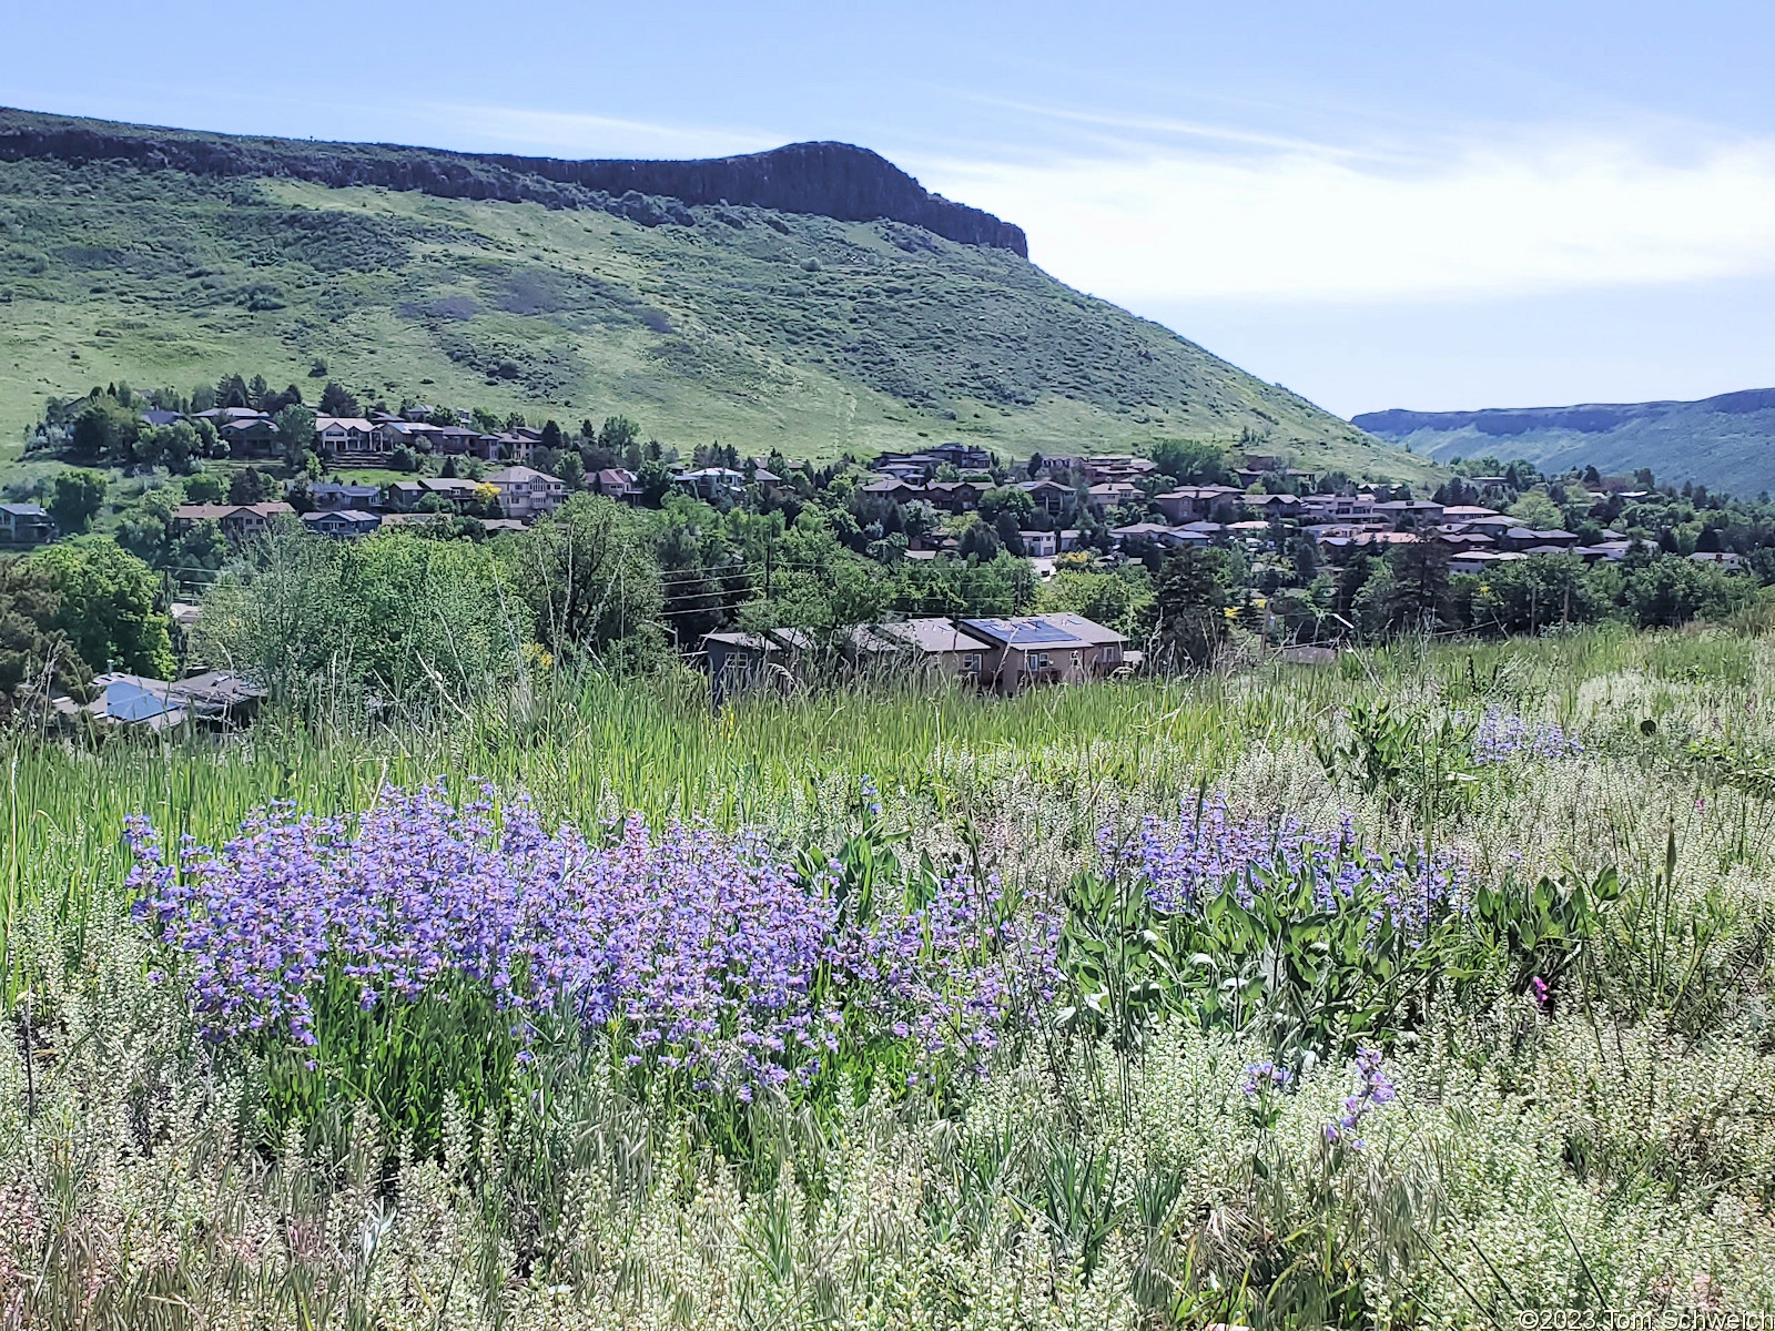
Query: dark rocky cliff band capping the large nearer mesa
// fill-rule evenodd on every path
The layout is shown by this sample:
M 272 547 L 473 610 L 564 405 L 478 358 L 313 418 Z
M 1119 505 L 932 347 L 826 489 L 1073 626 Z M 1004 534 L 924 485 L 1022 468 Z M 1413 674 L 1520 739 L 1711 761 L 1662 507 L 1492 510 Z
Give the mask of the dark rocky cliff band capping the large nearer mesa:
M 669 201 L 726 202 L 841 222 L 907 222 L 962 245 L 1030 256 L 1022 227 L 930 193 L 879 153 L 852 144 L 788 144 L 769 153 L 701 161 L 572 161 L 197 133 L 0 108 L 0 161 L 32 158 L 131 161 L 147 170 L 193 176 L 284 176 L 330 186 L 417 190 L 444 199 L 602 208 L 644 225 L 696 220 Z

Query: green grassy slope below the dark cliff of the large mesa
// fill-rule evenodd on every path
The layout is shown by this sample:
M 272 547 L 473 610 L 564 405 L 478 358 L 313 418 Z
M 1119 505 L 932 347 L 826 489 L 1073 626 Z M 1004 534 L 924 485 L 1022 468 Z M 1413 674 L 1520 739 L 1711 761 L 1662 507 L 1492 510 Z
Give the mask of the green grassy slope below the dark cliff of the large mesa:
M 682 209 L 680 209 L 682 211 Z M 50 394 L 224 373 L 827 456 L 1239 440 L 1324 470 L 1427 463 L 1005 248 L 902 222 L 609 211 L 0 161 L 0 467 Z

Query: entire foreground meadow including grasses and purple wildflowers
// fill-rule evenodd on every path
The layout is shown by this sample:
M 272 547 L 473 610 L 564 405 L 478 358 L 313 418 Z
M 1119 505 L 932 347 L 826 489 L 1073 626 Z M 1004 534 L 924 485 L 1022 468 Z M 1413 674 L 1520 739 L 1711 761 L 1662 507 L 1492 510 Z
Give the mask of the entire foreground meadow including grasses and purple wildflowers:
M 1738 623 L 11 738 L 0 1326 L 1775 1313 L 1771 697 Z

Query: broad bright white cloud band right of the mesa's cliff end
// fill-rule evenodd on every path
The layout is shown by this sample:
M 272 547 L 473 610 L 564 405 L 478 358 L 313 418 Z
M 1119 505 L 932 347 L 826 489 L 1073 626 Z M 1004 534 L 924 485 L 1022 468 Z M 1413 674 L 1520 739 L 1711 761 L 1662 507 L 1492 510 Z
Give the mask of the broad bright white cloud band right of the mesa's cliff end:
M 1677 156 L 1583 128 L 1399 151 L 1124 144 L 1049 163 L 921 161 L 927 185 L 1030 231 L 1088 291 L 1189 298 L 1424 300 L 1775 272 L 1775 144 Z

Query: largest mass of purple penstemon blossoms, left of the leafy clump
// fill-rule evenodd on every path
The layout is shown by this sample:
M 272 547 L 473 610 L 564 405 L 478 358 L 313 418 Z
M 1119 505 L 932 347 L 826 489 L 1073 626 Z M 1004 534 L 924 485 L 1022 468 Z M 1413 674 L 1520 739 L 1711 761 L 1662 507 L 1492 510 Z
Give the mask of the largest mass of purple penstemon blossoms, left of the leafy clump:
M 754 832 L 630 818 L 593 847 L 524 800 L 456 807 L 442 783 L 383 790 L 353 822 L 273 804 L 172 862 L 146 820 L 128 838 L 137 919 L 215 1040 L 314 1045 L 337 976 L 364 1012 L 469 987 L 518 1038 L 566 1017 L 625 1067 L 786 1084 L 886 1038 L 973 1065 L 1056 983 L 1058 921 L 1006 918 L 994 882 L 953 875 L 864 923 Z

